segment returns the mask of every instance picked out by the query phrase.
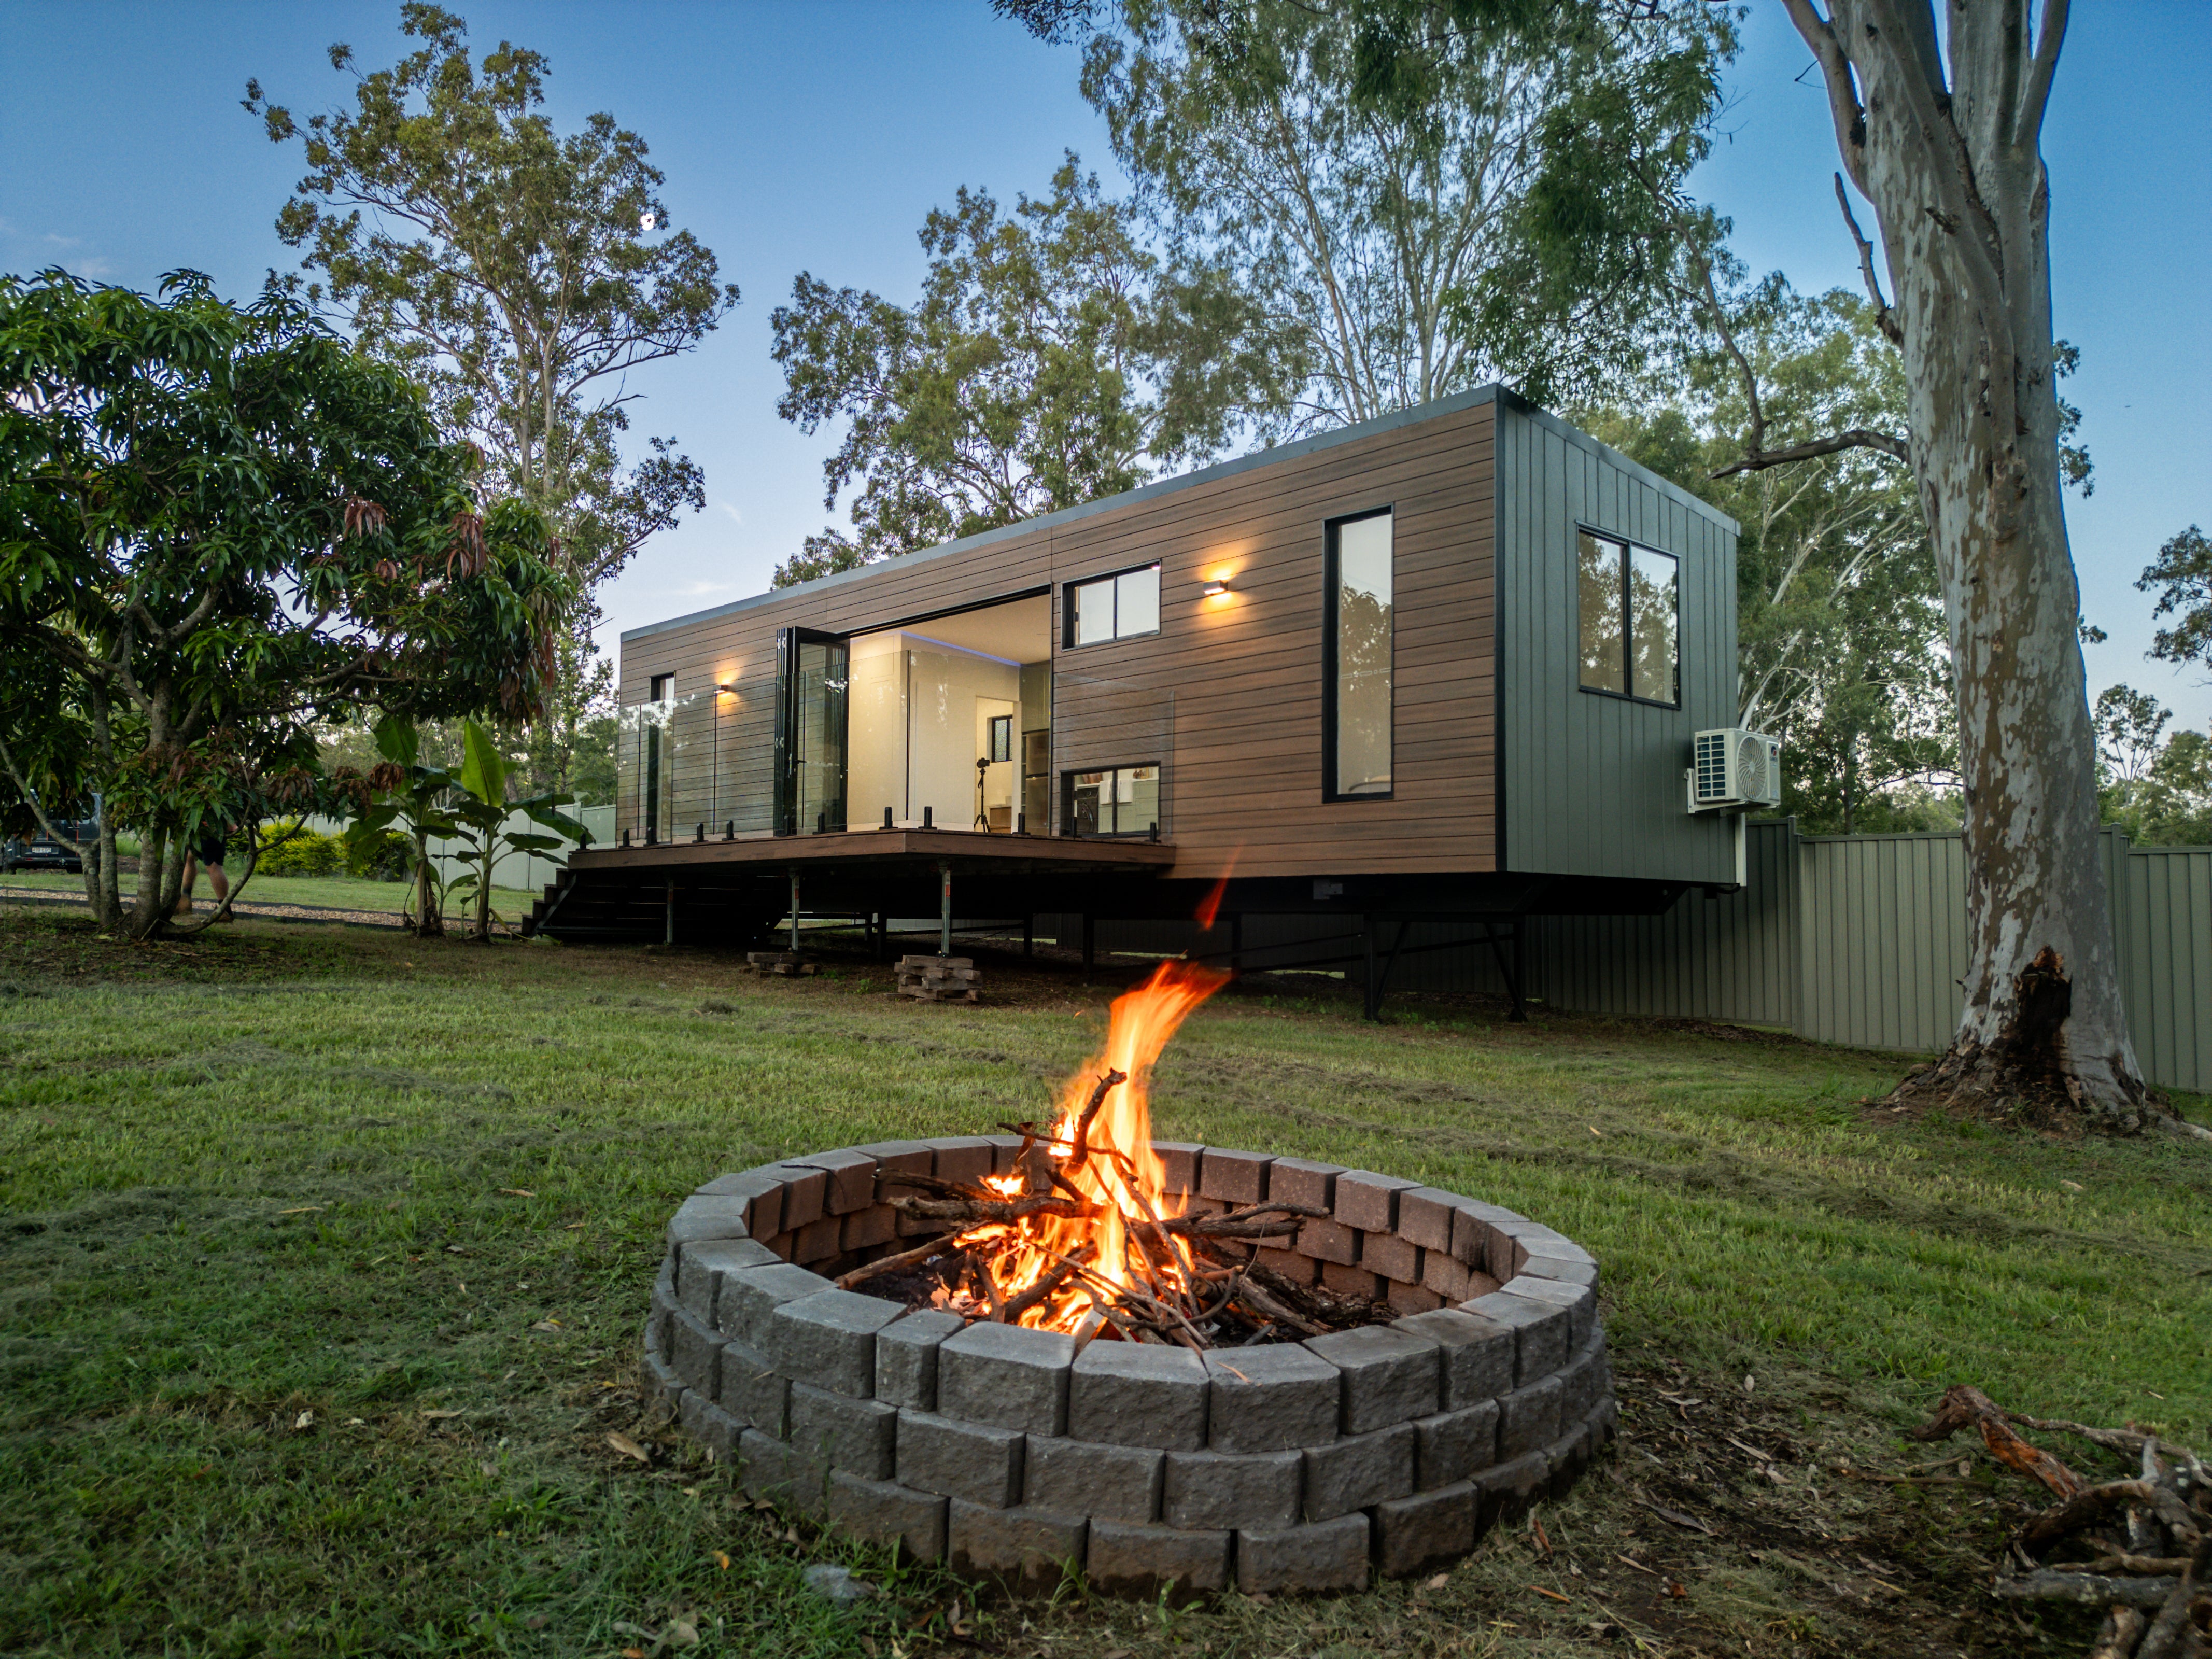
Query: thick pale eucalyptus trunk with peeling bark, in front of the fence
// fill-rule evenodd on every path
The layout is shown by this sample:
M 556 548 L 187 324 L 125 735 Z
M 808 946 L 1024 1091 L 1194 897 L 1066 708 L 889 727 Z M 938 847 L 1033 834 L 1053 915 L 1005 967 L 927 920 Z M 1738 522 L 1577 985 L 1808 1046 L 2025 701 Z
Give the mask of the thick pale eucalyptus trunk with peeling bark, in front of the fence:
M 1874 204 L 1936 544 L 1966 796 L 1966 1013 L 1900 1097 L 2135 1130 L 2059 482 L 2042 113 L 2066 2 L 1785 0 Z M 1949 49 L 1949 51 L 1944 51 Z

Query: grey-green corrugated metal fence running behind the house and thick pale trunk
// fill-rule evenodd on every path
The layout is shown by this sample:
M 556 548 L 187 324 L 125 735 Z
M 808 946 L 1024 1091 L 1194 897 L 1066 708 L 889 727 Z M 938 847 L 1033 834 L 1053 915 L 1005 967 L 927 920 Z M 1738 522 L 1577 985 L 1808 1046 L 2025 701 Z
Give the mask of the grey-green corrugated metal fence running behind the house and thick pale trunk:
M 1535 916 L 1528 995 L 1586 1013 L 1787 1026 L 1812 1042 L 1933 1053 L 1966 995 L 1966 849 L 1958 834 L 1801 836 L 1747 825 L 1747 883 L 1683 894 L 1659 916 Z M 2212 1093 L 2212 847 L 2099 836 L 2112 894 L 2119 993 L 2152 1084 Z M 1040 918 L 1048 922 L 1060 918 Z M 1077 918 L 1062 920 L 1062 933 Z M 1294 945 L 1349 922 L 1248 916 L 1243 940 Z M 1188 922 L 1099 922 L 1102 951 L 1181 951 Z M 1502 991 L 1478 929 L 1418 922 L 1398 991 Z M 1321 953 L 1316 949 L 1314 953 Z M 1287 958 L 1283 958 L 1287 960 Z M 1263 964 L 1263 962 L 1261 962 Z

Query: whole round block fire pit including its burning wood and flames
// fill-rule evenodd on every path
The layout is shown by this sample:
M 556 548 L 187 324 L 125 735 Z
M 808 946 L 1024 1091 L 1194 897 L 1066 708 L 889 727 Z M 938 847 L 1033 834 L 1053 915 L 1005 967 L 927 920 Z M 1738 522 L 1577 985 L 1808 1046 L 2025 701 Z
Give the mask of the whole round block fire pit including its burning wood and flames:
M 1356 1590 L 1464 1555 L 1613 1433 L 1597 1265 L 1491 1203 L 1150 1139 L 1219 975 L 1115 1004 L 1051 1126 L 723 1175 L 644 1380 L 754 1498 L 1013 1590 Z

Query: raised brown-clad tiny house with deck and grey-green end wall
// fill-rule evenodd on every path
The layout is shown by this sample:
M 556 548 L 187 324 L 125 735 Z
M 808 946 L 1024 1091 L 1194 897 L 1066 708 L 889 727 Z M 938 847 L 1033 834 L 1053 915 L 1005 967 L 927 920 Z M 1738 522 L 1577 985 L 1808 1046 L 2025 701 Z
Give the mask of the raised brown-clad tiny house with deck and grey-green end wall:
M 1741 883 L 1736 524 L 1502 387 L 622 637 L 531 925 L 1305 916 L 1296 964 Z M 1062 922 L 1062 925 L 1066 925 Z M 1332 922 L 1332 925 L 1323 925 Z M 1256 964 L 1256 962 L 1254 962 Z M 1281 947 L 1274 967 L 1290 967 Z

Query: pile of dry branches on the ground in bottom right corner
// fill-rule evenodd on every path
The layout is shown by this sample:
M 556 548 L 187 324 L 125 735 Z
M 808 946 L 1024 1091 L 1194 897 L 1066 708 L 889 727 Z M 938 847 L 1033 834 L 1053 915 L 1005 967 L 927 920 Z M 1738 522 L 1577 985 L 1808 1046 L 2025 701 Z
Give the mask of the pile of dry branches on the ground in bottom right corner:
M 2132 1480 L 2093 1484 L 2024 1440 L 2015 1425 L 2073 1433 L 2132 1455 Z M 2194 1451 L 2132 1429 L 2026 1418 L 1975 1387 L 1942 1396 L 1916 1440 L 1978 1429 L 1997 1462 L 2042 1482 L 2057 1504 L 2011 1542 L 2011 1566 L 1991 1586 L 2008 1601 L 2104 1606 L 2090 1659 L 2188 1659 L 2212 1637 L 2212 1471 Z M 2086 1559 L 2048 1559 L 2062 1551 Z M 2146 1619 L 2146 1615 L 2152 1615 Z

